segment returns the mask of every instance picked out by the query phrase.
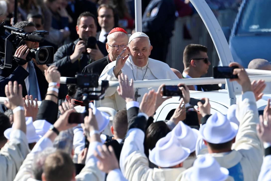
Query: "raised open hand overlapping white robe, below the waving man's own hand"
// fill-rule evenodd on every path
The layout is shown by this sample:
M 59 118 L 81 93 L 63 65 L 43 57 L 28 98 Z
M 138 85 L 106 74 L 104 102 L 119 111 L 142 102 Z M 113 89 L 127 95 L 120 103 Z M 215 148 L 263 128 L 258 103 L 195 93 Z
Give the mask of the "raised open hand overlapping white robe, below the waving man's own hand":
M 130 101 L 134 101 L 134 85 L 133 79 L 131 79 L 131 83 L 129 83 L 128 76 L 121 74 L 118 76 L 118 80 L 120 85 L 117 87 L 117 92 L 126 101 L 126 103 Z

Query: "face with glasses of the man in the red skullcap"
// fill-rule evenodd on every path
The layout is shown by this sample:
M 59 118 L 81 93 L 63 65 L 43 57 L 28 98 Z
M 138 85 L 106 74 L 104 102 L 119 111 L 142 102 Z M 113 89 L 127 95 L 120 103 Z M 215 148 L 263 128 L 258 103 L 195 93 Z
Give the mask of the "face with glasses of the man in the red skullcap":
M 121 46 L 118 46 L 118 49 L 114 49 L 111 47 L 114 45 L 127 46 L 128 45 L 127 34 L 124 34 L 124 33 L 120 34 L 119 32 L 114 32 L 109 35 L 107 43 L 106 43 L 106 49 L 107 49 L 107 52 L 109 53 L 109 57 L 112 61 L 115 61 L 117 59 L 118 55 L 120 55 L 121 51 L 124 49 Z M 122 56 L 126 56 L 126 55 L 122 55 Z

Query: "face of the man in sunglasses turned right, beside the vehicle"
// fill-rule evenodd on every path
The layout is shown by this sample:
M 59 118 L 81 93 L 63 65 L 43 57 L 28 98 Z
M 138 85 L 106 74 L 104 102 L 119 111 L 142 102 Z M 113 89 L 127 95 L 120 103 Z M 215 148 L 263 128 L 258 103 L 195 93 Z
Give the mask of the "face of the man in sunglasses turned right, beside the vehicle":
M 199 59 L 202 58 L 200 60 L 195 60 L 195 71 L 197 71 L 200 76 L 207 74 L 209 66 L 211 65 L 210 61 L 208 61 L 208 63 L 204 62 L 204 58 L 208 58 L 208 55 L 206 52 L 202 52 L 200 51 L 200 53 L 198 55 L 195 55 L 195 57 L 193 57 L 194 59 Z

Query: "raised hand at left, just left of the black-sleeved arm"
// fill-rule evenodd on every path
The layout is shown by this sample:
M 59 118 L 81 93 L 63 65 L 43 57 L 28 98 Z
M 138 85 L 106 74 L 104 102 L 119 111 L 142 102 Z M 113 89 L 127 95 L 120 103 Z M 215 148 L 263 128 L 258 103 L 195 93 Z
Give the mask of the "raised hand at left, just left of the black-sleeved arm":
M 29 97 L 30 97 L 30 101 L 29 101 Z M 24 100 L 24 116 L 25 117 L 32 117 L 33 121 L 36 120 L 37 114 L 38 114 L 38 99 L 35 99 L 35 103 L 34 104 L 34 100 L 33 100 L 33 96 L 30 95 L 26 95 L 25 98 L 23 97 L 22 100 Z

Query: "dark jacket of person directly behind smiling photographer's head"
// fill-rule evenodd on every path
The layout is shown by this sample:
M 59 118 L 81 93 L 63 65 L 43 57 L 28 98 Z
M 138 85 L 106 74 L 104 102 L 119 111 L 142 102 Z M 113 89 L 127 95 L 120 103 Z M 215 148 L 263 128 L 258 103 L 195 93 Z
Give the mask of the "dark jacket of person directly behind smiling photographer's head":
M 72 23 L 69 24 L 70 29 L 70 39 L 72 41 L 78 39 L 78 34 L 76 33 L 76 24 L 77 24 L 77 18 L 82 12 L 89 11 L 91 12 L 96 18 L 95 21 L 97 22 L 97 8 L 96 4 L 93 2 L 87 1 L 87 0 L 75 0 L 74 4 L 75 11 L 72 12 L 72 9 L 70 8 L 70 5 L 67 5 L 66 10 L 68 14 L 72 17 Z

